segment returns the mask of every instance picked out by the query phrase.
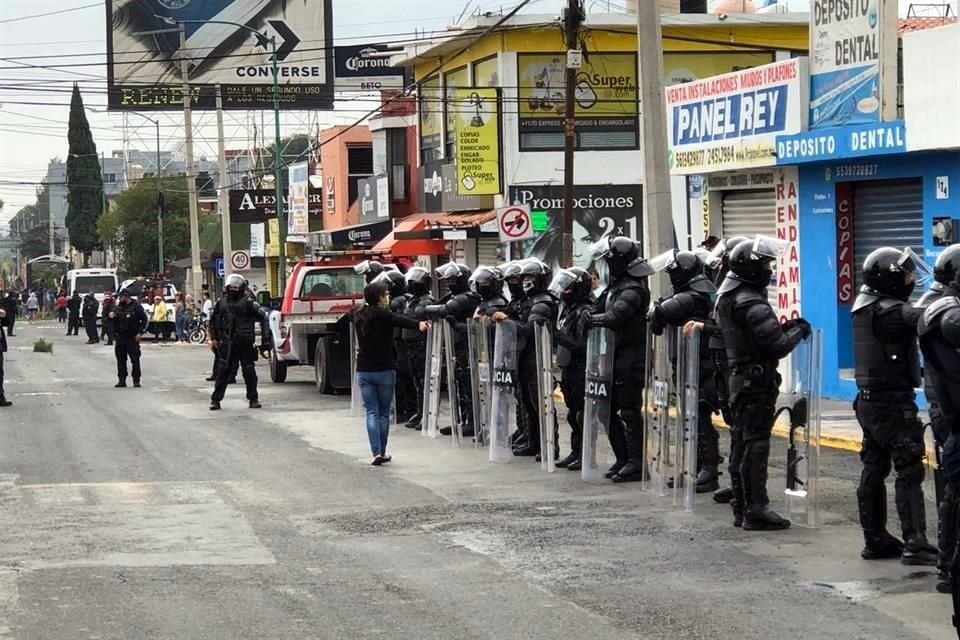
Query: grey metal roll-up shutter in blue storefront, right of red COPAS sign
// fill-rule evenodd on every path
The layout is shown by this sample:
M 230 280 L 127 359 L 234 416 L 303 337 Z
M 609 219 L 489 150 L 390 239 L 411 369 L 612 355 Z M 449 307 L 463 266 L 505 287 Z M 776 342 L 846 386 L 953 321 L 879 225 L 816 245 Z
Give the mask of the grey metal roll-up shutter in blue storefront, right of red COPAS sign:
M 853 247 L 857 290 L 863 261 L 880 247 L 910 247 L 923 255 L 923 182 L 874 180 L 853 185 Z M 917 287 L 916 296 L 922 287 Z

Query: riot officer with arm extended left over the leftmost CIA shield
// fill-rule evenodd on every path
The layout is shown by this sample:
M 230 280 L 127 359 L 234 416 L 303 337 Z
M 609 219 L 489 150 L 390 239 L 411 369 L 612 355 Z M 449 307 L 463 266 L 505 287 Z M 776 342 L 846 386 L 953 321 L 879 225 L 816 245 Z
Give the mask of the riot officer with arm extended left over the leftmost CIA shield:
M 514 442 L 513 455 L 540 455 L 540 411 L 539 379 L 540 365 L 537 362 L 536 327 L 545 324 L 552 328 L 557 321 L 557 299 L 548 290 L 550 287 L 550 268 L 537 258 L 527 258 L 517 263 L 523 291 L 516 317 L 504 313 L 494 313 L 491 318 L 501 322 L 507 317 L 517 321 L 517 370 L 520 384 L 517 385 L 517 426 L 524 430 L 522 437 Z M 516 269 L 509 270 L 511 279 L 516 279 Z M 515 283 L 508 286 L 516 286 Z M 552 391 L 552 390 L 551 390 Z M 522 418 L 520 416 L 523 416 Z M 556 420 L 554 420 L 556 425 Z

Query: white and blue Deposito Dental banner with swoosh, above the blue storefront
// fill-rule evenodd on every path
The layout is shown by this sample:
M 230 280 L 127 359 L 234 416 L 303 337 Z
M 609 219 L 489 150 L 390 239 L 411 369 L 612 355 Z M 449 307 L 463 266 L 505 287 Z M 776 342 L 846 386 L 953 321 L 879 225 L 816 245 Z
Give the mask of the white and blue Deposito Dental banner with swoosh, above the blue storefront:
M 881 119 L 884 100 L 893 97 L 885 90 L 883 47 L 889 26 L 886 21 L 896 20 L 897 8 L 894 5 L 888 12 L 886 4 L 887 0 L 813 0 L 811 129 Z M 896 41 L 890 46 L 895 51 Z M 889 71 L 895 78 L 896 69 Z

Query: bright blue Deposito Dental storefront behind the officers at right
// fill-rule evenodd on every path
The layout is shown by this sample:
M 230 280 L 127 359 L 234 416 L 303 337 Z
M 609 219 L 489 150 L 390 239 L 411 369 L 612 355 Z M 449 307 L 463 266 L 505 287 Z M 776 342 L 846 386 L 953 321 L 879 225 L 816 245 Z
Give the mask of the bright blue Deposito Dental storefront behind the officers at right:
M 892 121 L 777 138 L 777 164 L 796 167 L 799 311 L 823 329 L 824 397 L 856 394 L 850 309 L 863 258 L 910 246 L 932 265 L 958 241 L 960 151 L 908 153 L 908 135 Z

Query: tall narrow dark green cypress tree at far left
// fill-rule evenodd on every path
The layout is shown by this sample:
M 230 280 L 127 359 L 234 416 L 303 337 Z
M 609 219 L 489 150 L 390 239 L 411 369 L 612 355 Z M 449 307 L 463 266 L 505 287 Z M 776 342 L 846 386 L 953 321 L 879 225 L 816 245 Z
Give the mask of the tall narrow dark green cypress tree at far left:
M 103 213 L 103 176 L 97 145 L 83 110 L 80 89 L 73 85 L 67 134 L 67 230 L 70 243 L 83 253 L 84 266 L 98 247 L 97 219 Z

